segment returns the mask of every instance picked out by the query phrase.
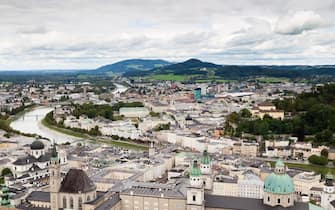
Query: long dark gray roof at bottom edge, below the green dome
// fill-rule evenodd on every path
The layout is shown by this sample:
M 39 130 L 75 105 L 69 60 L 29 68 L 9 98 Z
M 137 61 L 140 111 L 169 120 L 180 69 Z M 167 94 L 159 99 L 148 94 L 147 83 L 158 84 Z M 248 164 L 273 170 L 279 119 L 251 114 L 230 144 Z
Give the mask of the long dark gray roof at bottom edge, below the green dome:
M 238 210 L 307 210 L 308 203 L 296 202 L 294 206 L 284 208 L 281 206 L 267 206 L 262 199 L 230 197 L 219 195 L 205 195 L 206 208 L 238 209 Z

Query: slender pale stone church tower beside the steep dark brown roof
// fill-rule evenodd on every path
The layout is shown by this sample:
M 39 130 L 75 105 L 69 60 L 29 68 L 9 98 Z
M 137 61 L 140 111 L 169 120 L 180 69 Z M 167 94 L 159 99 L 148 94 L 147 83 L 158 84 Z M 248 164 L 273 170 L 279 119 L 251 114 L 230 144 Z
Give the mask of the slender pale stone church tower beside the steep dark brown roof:
M 61 174 L 60 174 L 60 160 L 58 158 L 56 145 L 53 145 L 51 152 L 51 164 L 50 164 L 50 202 L 51 202 L 51 210 L 59 209 L 59 199 L 58 192 L 61 183 Z

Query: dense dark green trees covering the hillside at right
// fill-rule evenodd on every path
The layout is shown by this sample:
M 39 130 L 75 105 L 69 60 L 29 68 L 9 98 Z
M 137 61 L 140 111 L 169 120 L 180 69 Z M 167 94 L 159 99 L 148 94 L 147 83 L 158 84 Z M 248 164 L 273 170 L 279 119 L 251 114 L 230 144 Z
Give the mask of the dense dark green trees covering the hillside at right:
M 279 120 L 270 116 L 252 119 L 248 110 L 232 113 L 226 120 L 226 133 L 241 136 L 242 133 L 269 136 L 290 134 L 300 141 L 312 140 L 315 144 L 335 145 L 335 85 L 314 88 L 311 93 L 302 93 L 295 99 L 275 100 L 277 108 L 292 118 Z M 305 139 L 306 136 L 312 138 Z

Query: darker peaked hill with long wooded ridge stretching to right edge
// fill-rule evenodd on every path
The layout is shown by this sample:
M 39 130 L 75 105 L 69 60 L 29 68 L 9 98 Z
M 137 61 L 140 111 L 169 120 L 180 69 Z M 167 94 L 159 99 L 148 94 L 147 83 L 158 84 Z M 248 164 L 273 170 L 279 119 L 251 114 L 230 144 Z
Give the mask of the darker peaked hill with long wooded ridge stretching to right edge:
M 145 72 L 126 72 L 124 76 L 180 75 L 193 80 L 239 80 L 255 77 L 304 78 L 334 77 L 334 65 L 218 65 L 198 59 L 154 68 Z

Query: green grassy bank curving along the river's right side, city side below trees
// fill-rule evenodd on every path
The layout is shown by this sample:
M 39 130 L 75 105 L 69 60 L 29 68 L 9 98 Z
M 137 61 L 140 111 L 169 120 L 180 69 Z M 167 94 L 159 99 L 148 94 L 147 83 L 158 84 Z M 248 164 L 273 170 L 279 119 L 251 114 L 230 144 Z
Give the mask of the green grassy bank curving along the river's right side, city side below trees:
M 79 133 L 79 132 L 76 132 L 70 129 L 60 128 L 60 127 L 57 127 L 55 125 L 51 125 L 50 123 L 48 123 L 48 121 L 46 120 L 46 117 L 44 117 L 43 120 L 41 121 L 41 125 L 47 127 L 48 129 L 51 129 L 51 130 L 54 130 L 54 131 L 57 131 L 57 132 L 60 132 L 66 135 L 81 138 L 81 140 L 89 140 L 93 143 L 111 144 L 113 146 L 122 147 L 126 149 L 134 149 L 134 150 L 147 150 L 149 148 L 146 145 L 141 145 L 141 144 L 137 144 L 134 142 L 118 141 L 118 140 L 113 140 L 111 138 L 95 137 L 95 136 L 90 136 L 88 134 Z

